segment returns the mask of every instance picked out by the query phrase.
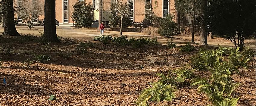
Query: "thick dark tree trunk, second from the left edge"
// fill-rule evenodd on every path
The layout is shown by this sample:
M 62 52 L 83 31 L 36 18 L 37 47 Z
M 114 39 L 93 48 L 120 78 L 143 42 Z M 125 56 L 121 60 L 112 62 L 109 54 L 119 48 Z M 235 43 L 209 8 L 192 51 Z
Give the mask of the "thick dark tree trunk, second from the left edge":
M 45 0 L 45 25 L 43 41 L 60 42 L 56 34 L 55 0 Z

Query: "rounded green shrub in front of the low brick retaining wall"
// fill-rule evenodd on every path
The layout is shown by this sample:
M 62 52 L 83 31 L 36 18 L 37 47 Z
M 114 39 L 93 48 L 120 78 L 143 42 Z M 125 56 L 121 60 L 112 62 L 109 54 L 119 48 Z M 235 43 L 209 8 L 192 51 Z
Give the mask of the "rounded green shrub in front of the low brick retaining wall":
M 160 35 L 171 37 L 171 36 L 175 36 L 178 34 L 177 25 L 173 21 L 173 19 L 174 19 L 174 16 L 169 15 L 168 17 L 163 18 L 161 20 L 161 22 L 160 22 L 161 24 L 158 29 L 158 33 Z

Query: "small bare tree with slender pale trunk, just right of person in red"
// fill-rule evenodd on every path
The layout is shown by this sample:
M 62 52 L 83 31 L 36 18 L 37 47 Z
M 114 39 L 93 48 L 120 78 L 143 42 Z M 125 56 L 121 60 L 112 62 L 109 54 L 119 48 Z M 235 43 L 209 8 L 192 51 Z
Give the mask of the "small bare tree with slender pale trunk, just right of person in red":
M 110 10 L 116 10 L 120 15 L 120 35 L 122 35 L 123 30 L 123 17 L 127 15 L 133 15 L 133 12 L 130 11 L 130 8 L 133 8 L 132 0 L 111 0 Z

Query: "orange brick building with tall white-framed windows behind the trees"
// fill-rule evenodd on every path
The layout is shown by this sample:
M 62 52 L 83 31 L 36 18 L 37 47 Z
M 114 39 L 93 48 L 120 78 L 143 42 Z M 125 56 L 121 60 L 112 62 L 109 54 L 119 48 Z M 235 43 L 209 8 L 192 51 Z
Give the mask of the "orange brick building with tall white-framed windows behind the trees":
M 44 1 L 44 0 L 33 0 L 33 1 Z M 73 24 L 73 21 L 71 19 L 72 5 L 75 4 L 76 1 L 84 1 L 84 0 L 56 0 L 56 19 L 60 22 L 60 24 Z M 133 2 L 131 7 L 131 11 L 133 11 L 133 15 L 130 18 L 133 20 L 133 22 L 140 22 L 145 17 L 145 4 L 149 3 L 151 4 L 153 8 L 153 12 L 155 15 L 160 17 L 166 17 L 168 14 L 174 14 L 174 0 L 131 0 Z M 22 3 L 23 0 L 15 0 L 17 3 Z M 88 0 L 86 3 L 91 2 L 92 5 L 94 5 L 95 9 L 98 8 L 98 0 Z M 107 11 L 109 9 L 109 2 L 110 0 L 103 0 L 103 10 Z M 19 20 L 22 20 L 17 14 L 16 17 Z M 43 20 L 44 16 L 40 16 L 35 20 L 35 23 L 37 23 L 39 20 Z

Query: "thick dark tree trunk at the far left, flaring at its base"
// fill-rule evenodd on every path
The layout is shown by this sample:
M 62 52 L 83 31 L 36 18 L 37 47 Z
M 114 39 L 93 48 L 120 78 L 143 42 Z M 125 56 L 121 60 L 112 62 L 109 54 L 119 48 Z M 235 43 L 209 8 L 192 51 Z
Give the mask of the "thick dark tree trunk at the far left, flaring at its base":
M 13 0 L 6 0 L 3 5 L 3 25 L 4 25 L 4 32 L 3 35 L 7 36 L 20 36 L 17 32 L 15 23 L 14 23 L 14 8 L 13 8 Z

